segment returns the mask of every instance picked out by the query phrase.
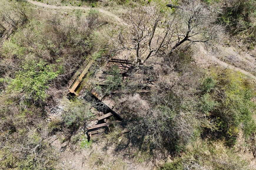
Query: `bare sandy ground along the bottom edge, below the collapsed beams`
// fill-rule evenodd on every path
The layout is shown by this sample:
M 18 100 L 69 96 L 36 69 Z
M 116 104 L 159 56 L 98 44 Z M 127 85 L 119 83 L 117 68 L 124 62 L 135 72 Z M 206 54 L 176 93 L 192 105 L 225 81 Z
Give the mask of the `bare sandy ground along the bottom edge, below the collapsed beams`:
M 128 144 L 123 135 L 115 141 L 108 138 L 99 139 L 89 148 L 81 148 L 80 141 L 74 145 L 69 142 L 62 143 L 60 139 L 60 135 L 54 135 L 49 140 L 52 147 L 59 152 L 60 159 L 56 169 L 147 170 L 157 169 L 155 165 L 162 161 L 131 150 L 132 143 Z

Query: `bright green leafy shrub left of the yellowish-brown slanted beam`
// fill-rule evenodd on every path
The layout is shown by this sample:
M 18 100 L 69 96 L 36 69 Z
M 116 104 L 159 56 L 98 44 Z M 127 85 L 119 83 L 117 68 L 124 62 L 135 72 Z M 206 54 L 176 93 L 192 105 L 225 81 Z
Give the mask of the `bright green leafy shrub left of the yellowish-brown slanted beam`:
M 23 93 L 29 101 L 45 101 L 49 96 L 46 93 L 49 81 L 58 75 L 54 67 L 47 65 L 43 60 L 37 61 L 34 56 L 26 57 L 21 63 L 21 70 L 16 72 L 15 78 L 11 80 L 8 90 Z

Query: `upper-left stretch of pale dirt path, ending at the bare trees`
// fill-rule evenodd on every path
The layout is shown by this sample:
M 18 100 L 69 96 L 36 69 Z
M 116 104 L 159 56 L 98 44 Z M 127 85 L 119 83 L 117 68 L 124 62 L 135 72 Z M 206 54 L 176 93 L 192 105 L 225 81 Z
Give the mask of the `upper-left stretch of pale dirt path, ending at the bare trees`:
M 36 6 L 41 6 L 41 7 L 45 7 L 45 8 L 49 8 L 49 9 L 70 9 L 70 10 L 73 10 L 73 9 L 90 10 L 91 9 L 89 7 L 83 7 L 83 6 L 56 6 L 56 5 L 47 5 L 47 4 L 38 2 L 38 1 L 32 1 L 32 0 L 27 0 L 27 1 Z M 126 23 L 124 23 L 124 21 L 122 21 L 121 18 L 119 18 L 118 16 L 114 15 L 113 13 L 111 13 L 109 11 L 106 11 L 106 10 L 100 9 L 100 8 L 93 8 L 93 9 L 97 9 L 99 12 L 103 13 L 104 15 L 112 17 L 114 21 L 118 21 L 118 22 L 126 25 Z

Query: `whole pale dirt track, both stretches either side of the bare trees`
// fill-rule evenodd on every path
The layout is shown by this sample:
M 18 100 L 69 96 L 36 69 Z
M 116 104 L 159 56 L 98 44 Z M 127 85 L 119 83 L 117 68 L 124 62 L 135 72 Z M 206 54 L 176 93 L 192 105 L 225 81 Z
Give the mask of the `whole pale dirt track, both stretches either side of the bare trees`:
M 89 7 L 81 7 L 81 6 L 56 6 L 56 5 L 47 5 L 47 4 L 38 2 L 38 1 L 32 1 L 32 0 L 27 0 L 27 1 L 29 3 L 31 3 L 31 4 L 36 5 L 36 6 L 41 6 L 41 7 L 45 7 L 45 8 L 49 8 L 49 9 L 70 9 L 70 10 L 73 10 L 73 9 L 89 10 L 89 9 L 91 9 Z M 109 11 L 106 11 L 106 10 L 101 9 L 101 8 L 94 8 L 94 9 L 97 9 L 99 12 L 103 13 L 104 15 L 112 17 L 113 20 L 115 20 L 115 21 L 117 21 L 119 23 L 127 25 L 124 21 L 122 21 L 121 18 L 119 18 L 118 16 L 114 15 L 113 13 L 111 13 Z M 251 74 L 250 72 L 247 72 L 247 71 L 245 71 L 245 70 L 243 70 L 243 69 L 241 69 L 239 67 L 235 67 L 235 66 L 233 66 L 231 64 L 227 64 L 226 62 L 223 62 L 223 61 L 219 60 L 214 55 L 210 55 L 207 52 L 205 52 L 205 50 L 203 50 L 203 48 L 200 48 L 200 51 L 201 51 L 201 53 L 204 53 L 205 56 L 207 56 L 207 58 L 208 58 L 207 62 L 215 62 L 215 63 L 217 63 L 218 65 L 220 65 L 222 67 L 230 68 L 230 69 L 233 69 L 235 71 L 240 71 L 243 74 L 245 74 L 245 75 L 251 77 L 252 79 L 256 80 L 256 77 L 253 74 Z M 197 60 L 200 60 L 200 58 L 197 58 Z M 201 58 L 201 60 L 202 60 L 202 58 Z M 199 63 L 200 63 L 200 61 L 199 61 Z

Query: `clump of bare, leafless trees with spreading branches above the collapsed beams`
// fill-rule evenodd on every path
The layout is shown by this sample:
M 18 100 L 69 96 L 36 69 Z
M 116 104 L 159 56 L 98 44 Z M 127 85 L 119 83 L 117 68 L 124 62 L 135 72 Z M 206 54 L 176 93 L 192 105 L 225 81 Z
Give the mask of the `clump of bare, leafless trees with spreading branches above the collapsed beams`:
M 169 9 L 140 7 L 127 11 L 124 29 L 111 36 L 117 50 L 136 54 L 135 63 L 143 64 L 152 56 L 167 55 L 182 44 L 204 43 L 217 39 L 213 26 L 214 9 L 193 2 L 171 13 Z

